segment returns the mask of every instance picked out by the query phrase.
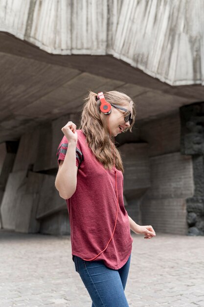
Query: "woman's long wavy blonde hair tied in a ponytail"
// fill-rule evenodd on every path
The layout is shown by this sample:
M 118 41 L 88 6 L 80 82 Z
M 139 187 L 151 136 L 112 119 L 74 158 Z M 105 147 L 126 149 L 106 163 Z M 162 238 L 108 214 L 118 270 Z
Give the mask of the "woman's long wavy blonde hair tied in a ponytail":
M 124 102 L 130 103 L 130 106 L 133 108 L 133 123 L 123 132 L 126 132 L 127 130 L 132 132 L 136 117 L 135 103 L 126 94 L 118 91 L 109 91 L 103 93 L 106 101 L 109 103 L 113 103 L 115 105 L 123 105 Z M 79 129 L 82 129 L 86 135 L 89 148 L 91 148 L 96 158 L 103 164 L 106 169 L 111 170 L 113 168 L 113 150 L 115 150 L 115 167 L 116 169 L 124 172 L 119 150 L 115 147 L 114 144 L 114 137 L 106 133 L 103 127 L 103 122 L 100 117 L 100 100 L 97 100 L 97 96 L 98 94 L 90 91 L 88 97 L 85 98 Z M 130 114 L 130 111 L 125 112 L 122 114 L 122 116 L 128 114 Z

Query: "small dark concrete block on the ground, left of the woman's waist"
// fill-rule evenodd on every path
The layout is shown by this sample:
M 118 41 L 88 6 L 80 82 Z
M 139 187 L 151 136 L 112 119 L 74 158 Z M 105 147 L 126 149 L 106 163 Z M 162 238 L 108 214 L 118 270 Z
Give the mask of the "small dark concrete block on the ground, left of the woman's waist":
M 40 232 L 59 235 L 70 234 L 68 210 L 62 210 L 58 213 L 46 216 L 41 221 Z

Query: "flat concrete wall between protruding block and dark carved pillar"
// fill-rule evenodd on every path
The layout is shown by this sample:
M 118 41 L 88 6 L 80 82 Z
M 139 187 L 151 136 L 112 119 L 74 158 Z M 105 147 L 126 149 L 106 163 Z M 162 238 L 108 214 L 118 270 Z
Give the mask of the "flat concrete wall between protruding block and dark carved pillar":
M 140 200 L 142 224 L 186 234 L 186 199 L 193 195 L 191 156 L 181 155 L 179 113 L 140 126 L 149 144 L 151 187 Z

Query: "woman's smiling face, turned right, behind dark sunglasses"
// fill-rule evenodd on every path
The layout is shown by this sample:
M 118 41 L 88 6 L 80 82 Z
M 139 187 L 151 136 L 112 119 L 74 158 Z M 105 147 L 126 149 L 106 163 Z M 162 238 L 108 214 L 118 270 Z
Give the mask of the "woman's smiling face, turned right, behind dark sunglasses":
M 133 108 L 130 106 L 129 102 L 124 102 L 123 104 L 120 104 L 119 106 L 124 107 L 125 109 L 131 111 L 131 113 L 133 114 Z M 124 130 L 125 128 L 130 127 L 129 121 L 125 122 L 125 118 L 124 118 L 125 113 L 126 113 L 125 111 L 117 109 L 113 106 L 112 106 L 111 114 L 105 115 L 101 113 L 105 131 L 110 134 L 110 130 L 111 130 L 111 135 L 116 136 L 118 133 L 121 133 L 122 130 Z M 122 128 L 122 130 L 119 126 Z

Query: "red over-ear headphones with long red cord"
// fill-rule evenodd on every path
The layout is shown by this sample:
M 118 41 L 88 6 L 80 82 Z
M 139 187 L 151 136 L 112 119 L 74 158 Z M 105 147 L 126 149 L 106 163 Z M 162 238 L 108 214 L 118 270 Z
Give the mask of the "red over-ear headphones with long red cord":
M 106 115 L 110 114 L 110 113 L 111 113 L 112 106 L 111 106 L 111 104 L 110 104 L 109 102 L 107 102 L 107 101 L 105 100 L 105 97 L 104 97 L 104 95 L 103 95 L 103 92 L 98 93 L 98 98 L 100 99 L 100 102 L 101 102 L 101 105 L 100 105 L 100 110 L 101 110 L 101 112 L 103 112 L 103 113 L 106 114 Z M 109 117 L 108 117 L 108 124 L 109 124 Z M 111 135 L 110 126 L 109 126 L 109 130 L 110 130 L 110 135 Z M 112 147 L 112 149 L 113 149 L 113 147 Z M 115 167 L 115 150 L 114 150 L 114 167 Z M 115 173 L 115 189 L 116 189 L 116 193 L 117 193 L 117 174 L 116 174 L 116 171 L 115 171 L 115 170 L 114 170 L 114 173 Z M 117 194 L 117 213 L 118 213 L 118 207 L 119 207 L 119 203 L 118 203 L 118 194 Z M 114 233 L 114 231 L 115 231 L 116 221 L 117 221 L 117 214 L 116 214 L 116 219 L 115 219 L 115 225 L 114 225 L 113 233 Z M 113 238 L 113 233 L 112 233 L 111 239 L 109 240 L 109 242 L 108 242 L 107 245 L 106 245 L 106 248 L 105 248 L 103 251 L 101 251 L 98 255 L 96 255 L 96 256 L 95 256 L 94 258 L 92 258 L 92 259 L 83 259 L 83 260 L 91 261 L 91 260 L 95 259 L 97 256 L 99 256 L 101 253 L 103 253 L 103 252 L 107 249 L 109 243 L 111 242 L 111 240 L 112 240 L 112 238 Z

